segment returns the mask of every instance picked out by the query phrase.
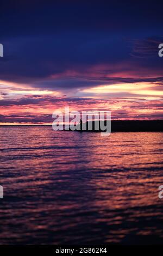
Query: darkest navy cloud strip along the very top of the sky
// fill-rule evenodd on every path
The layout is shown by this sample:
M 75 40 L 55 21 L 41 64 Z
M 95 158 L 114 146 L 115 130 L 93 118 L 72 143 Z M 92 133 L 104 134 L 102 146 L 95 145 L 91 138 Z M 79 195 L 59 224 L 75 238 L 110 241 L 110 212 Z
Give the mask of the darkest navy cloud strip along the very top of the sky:
M 159 1 L 12 1 L 1 2 L 1 36 L 49 34 L 70 30 L 125 32 L 161 28 Z M 159 23 L 160 22 L 160 23 Z M 12 26 L 11 26 L 12 25 Z

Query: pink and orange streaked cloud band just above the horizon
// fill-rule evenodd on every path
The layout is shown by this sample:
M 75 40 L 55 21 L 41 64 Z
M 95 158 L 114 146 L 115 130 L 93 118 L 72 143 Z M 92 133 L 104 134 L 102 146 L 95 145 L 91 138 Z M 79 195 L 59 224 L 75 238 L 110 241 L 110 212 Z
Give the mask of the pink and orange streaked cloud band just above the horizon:
M 52 124 L 54 111 L 64 112 L 68 106 L 70 111 L 111 111 L 114 119 L 161 119 L 163 101 L 137 98 L 111 98 L 109 100 L 57 98 L 52 96 L 26 96 L 27 99 L 4 102 L 0 106 L 2 124 Z M 6 105 L 5 105 L 6 104 Z

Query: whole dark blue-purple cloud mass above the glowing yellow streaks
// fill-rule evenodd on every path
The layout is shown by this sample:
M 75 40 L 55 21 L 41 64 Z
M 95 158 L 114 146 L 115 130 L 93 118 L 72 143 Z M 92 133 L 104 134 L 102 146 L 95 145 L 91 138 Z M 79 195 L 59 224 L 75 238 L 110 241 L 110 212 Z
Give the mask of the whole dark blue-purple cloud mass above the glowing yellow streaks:
M 0 79 L 36 84 L 67 70 L 84 73 L 92 65 L 117 64 L 123 72 L 124 62 L 137 72 L 142 66 L 150 73 L 162 69 L 156 52 L 162 36 L 162 5 L 153 1 L 3 1 Z M 92 84 L 80 78 L 54 78 L 54 87 Z M 47 87 L 53 88 L 49 83 Z

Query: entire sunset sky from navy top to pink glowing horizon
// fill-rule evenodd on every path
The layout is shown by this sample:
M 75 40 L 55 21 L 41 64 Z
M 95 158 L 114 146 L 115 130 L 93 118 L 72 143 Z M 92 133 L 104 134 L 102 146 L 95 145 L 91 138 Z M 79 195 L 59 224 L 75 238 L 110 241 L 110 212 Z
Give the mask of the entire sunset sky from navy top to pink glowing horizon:
M 162 119 L 162 7 L 4 1 L 0 124 L 51 124 L 65 106 L 108 110 L 112 119 Z

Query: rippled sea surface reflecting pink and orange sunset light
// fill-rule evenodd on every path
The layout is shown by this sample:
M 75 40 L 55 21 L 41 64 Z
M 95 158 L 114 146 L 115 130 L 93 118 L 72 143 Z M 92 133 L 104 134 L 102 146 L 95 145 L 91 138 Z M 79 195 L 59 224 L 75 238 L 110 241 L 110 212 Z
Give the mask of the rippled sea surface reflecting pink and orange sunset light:
M 162 133 L 0 127 L 0 244 L 162 243 Z

